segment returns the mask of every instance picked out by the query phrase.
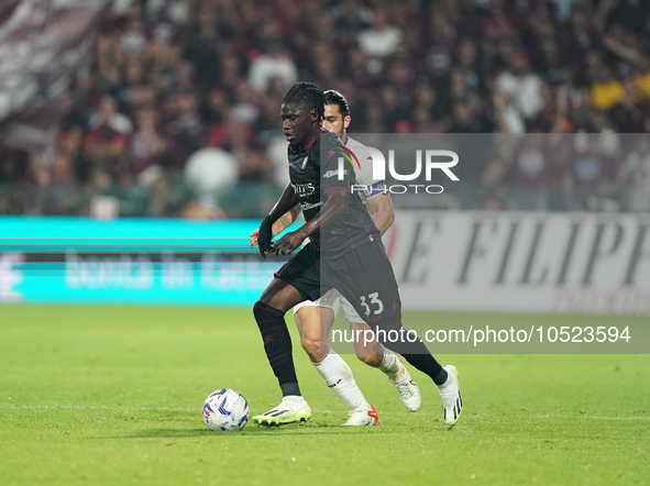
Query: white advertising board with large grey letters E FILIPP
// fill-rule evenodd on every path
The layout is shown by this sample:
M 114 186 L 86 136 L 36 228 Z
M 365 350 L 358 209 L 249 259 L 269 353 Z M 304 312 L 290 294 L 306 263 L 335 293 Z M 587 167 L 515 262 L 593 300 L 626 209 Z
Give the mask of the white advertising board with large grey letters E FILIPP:
M 399 211 L 405 309 L 650 316 L 650 218 Z

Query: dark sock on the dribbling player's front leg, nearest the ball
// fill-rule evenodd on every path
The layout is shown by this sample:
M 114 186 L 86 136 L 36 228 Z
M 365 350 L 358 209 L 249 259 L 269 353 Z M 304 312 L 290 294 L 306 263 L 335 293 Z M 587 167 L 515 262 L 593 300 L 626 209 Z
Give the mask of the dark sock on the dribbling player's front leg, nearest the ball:
M 267 303 L 255 302 L 253 314 L 262 333 L 266 357 L 283 390 L 283 397 L 300 395 L 285 313 Z

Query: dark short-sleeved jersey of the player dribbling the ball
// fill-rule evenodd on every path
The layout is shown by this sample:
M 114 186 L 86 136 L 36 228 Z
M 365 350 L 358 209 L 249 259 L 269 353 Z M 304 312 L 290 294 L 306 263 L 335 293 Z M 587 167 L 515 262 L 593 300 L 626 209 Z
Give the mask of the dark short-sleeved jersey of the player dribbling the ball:
M 335 221 L 309 236 L 324 256 L 342 255 L 362 244 L 381 240 L 379 231 L 360 195 L 351 190 L 356 177 L 350 161 L 344 158 L 343 146 L 335 134 L 320 129 L 305 146 L 289 145 L 288 148 L 289 177 L 306 221 L 321 210 L 329 192 L 351 192 L 348 209 Z M 339 158 L 344 163 L 341 164 Z

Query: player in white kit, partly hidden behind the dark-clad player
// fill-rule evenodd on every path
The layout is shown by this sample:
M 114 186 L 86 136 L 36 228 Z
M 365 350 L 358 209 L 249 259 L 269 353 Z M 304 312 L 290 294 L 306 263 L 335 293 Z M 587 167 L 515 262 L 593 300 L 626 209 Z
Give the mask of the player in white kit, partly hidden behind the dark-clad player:
M 364 187 L 362 199 L 366 205 L 373 222 L 382 234 L 393 224 L 395 218 L 390 194 L 386 190 L 383 179 L 373 177 L 372 156 L 365 145 L 348 136 L 351 122 L 350 104 L 339 91 L 324 92 L 324 120 L 322 126 L 335 133 L 341 142 L 355 154 L 359 165 L 354 166 L 356 181 Z M 280 217 L 273 224 L 273 235 L 282 233 L 290 227 L 299 214 L 300 205 Z M 258 230 L 251 233 L 251 247 L 257 244 Z M 348 363 L 329 345 L 327 336 L 337 319 L 340 307 L 343 307 L 345 319 L 350 322 L 350 330 L 354 336 L 356 357 L 368 366 L 383 372 L 389 383 L 397 390 L 407 410 L 416 411 L 420 408 L 420 390 L 412 380 L 401 360 L 386 350 L 376 340 L 366 340 L 372 332 L 371 327 L 359 316 L 354 307 L 337 290 L 328 290 L 318 300 L 309 299 L 294 306 L 294 318 L 300 332 L 300 344 L 309 356 L 313 367 L 323 378 L 328 388 L 349 408 L 349 418 L 343 426 L 376 426 L 377 411 L 365 399 L 359 385 L 354 380 L 352 369 Z

